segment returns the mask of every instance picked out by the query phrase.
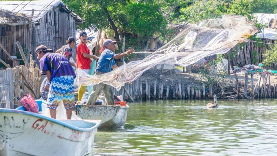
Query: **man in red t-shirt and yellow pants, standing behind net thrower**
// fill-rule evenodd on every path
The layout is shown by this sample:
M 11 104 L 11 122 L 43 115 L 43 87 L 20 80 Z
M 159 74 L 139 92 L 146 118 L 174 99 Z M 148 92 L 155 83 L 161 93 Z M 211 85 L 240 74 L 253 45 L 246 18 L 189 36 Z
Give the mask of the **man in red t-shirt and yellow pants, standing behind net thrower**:
M 98 59 L 97 56 L 91 55 L 89 52 L 89 48 L 86 45 L 87 42 L 87 33 L 85 31 L 80 32 L 79 35 L 80 43 L 77 45 L 77 68 L 82 69 L 87 74 L 90 70 L 91 59 Z M 83 94 L 85 93 L 85 87 L 80 85 L 78 91 L 78 101 L 82 100 Z

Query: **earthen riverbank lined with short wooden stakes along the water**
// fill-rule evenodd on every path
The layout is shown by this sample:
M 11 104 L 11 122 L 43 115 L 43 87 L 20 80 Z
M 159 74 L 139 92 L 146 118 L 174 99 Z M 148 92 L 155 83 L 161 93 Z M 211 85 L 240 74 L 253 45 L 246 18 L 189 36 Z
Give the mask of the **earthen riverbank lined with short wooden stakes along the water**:
M 125 88 L 134 101 L 209 99 L 213 95 L 217 95 L 219 99 L 276 97 L 277 76 L 253 74 L 251 79 L 250 73 L 246 75 L 247 77 L 244 73 L 237 74 L 237 76 L 235 74 L 225 75 L 221 78 L 214 76 L 212 80 L 214 82 L 211 83 L 205 82 L 203 76 L 198 73 L 171 73 L 167 75 L 146 73 L 132 84 L 125 84 Z M 114 94 L 123 95 L 126 101 L 132 101 L 123 89 L 120 91 L 114 89 Z

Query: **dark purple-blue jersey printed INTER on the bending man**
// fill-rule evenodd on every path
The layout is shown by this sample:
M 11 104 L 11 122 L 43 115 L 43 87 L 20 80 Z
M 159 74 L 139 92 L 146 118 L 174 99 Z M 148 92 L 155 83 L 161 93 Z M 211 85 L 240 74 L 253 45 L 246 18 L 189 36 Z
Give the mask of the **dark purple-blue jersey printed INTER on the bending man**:
M 76 77 L 74 69 L 69 64 L 68 59 L 62 54 L 47 52 L 39 61 L 40 71 L 42 75 L 51 71 L 50 83 L 54 77 L 72 75 Z

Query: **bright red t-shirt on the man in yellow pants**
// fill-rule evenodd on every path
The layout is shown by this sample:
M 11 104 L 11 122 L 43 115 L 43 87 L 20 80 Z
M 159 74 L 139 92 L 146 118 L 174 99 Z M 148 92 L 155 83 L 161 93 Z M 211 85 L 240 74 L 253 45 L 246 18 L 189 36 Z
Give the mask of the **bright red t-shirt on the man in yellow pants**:
M 90 54 L 87 45 L 80 42 L 77 45 L 77 68 L 90 69 L 90 59 L 87 59 L 83 56 L 84 52 Z

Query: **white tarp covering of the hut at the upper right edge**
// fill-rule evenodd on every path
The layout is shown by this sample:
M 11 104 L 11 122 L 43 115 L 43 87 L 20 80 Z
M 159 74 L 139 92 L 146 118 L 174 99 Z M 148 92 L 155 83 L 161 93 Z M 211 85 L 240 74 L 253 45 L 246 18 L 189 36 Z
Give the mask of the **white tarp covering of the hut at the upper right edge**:
M 277 14 L 271 14 L 271 13 L 254 13 L 253 14 L 255 17 L 257 17 L 257 20 L 259 23 L 261 24 L 266 24 L 266 26 L 269 26 L 269 23 L 271 21 L 272 18 L 276 18 L 277 19 Z M 267 38 L 270 40 L 276 40 L 277 37 L 277 30 L 276 29 L 270 29 L 270 28 L 264 28 L 262 29 L 262 32 L 257 34 L 257 36 L 259 36 L 260 38 Z

